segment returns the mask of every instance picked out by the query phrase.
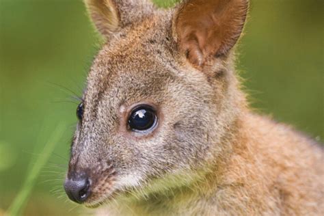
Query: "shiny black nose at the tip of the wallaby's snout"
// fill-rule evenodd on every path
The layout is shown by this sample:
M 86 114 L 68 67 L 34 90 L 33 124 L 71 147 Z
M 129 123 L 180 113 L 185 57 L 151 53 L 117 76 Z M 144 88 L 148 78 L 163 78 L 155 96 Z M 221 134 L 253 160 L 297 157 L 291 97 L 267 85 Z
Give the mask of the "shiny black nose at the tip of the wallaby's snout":
M 77 203 L 85 202 L 90 195 L 90 180 L 86 177 L 66 178 L 64 189 L 70 200 Z

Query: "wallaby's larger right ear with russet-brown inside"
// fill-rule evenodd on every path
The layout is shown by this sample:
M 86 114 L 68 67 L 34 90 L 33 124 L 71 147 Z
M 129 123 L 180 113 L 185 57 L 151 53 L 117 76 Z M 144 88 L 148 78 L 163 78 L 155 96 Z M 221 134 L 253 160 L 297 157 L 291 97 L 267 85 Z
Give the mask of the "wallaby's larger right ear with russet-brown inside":
M 248 0 L 187 0 L 174 15 L 180 51 L 195 66 L 226 55 L 241 35 Z

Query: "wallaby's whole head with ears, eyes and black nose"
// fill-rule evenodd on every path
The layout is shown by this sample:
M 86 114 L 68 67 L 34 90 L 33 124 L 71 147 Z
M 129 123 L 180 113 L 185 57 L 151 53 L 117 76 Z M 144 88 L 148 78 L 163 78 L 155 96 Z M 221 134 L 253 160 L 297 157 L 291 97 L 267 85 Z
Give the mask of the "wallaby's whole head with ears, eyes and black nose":
M 77 109 L 65 183 L 71 200 L 96 206 L 155 191 L 158 180 L 203 170 L 229 148 L 224 135 L 242 104 L 230 49 L 247 3 L 226 2 L 158 10 L 146 1 L 86 1 L 107 43 Z M 239 23 L 228 26 L 232 18 Z

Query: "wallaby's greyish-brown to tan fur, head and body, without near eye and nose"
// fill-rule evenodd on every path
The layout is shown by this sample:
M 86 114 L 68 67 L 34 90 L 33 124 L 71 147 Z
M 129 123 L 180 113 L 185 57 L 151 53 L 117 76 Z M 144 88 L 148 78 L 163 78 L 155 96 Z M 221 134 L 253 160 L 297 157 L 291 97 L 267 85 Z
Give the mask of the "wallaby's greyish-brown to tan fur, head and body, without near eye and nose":
M 71 149 L 68 178 L 92 179 L 86 206 L 107 202 L 97 215 L 323 215 L 323 149 L 249 111 L 234 73 L 245 0 L 189 0 L 175 10 L 86 3 L 109 38 Z M 211 16 L 221 24 L 198 25 Z M 138 103 L 157 109 L 150 133 L 126 129 Z

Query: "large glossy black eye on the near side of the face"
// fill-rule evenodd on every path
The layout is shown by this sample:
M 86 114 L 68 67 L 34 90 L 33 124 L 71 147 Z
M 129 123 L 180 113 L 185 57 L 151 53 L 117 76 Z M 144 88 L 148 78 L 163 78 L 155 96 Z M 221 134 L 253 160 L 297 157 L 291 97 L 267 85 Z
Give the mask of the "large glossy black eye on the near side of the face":
M 133 131 L 146 131 L 157 124 L 157 115 L 151 107 L 137 107 L 129 117 L 129 126 Z

